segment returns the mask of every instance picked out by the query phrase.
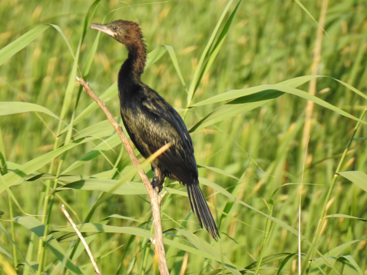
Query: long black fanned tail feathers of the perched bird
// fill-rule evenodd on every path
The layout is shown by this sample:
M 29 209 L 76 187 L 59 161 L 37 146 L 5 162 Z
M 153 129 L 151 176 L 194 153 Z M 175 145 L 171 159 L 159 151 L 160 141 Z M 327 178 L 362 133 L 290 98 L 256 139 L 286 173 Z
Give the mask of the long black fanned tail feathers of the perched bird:
M 204 198 L 203 192 L 201 192 L 199 183 L 186 184 L 186 188 L 189 195 L 191 209 L 193 212 L 195 209 L 197 220 L 199 221 L 201 228 L 203 228 L 204 223 L 206 230 L 215 239 L 215 241 L 218 241 L 218 237 L 220 237 L 218 228 L 209 210 L 209 206 Z

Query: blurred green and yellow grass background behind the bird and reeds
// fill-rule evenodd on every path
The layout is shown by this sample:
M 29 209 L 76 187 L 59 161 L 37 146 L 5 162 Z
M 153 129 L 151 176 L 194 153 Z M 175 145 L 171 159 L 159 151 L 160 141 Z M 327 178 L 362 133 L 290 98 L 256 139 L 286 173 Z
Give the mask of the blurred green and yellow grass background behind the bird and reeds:
M 74 78 L 72 66 L 77 62 L 76 74 L 84 74 L 97 37 L 97 32 L 88 28 L 80 46 L 79 59 L 73 58 L 83 33 L 84 19 L 92 3 L 93 1 L 87 0 L 1 2 L 0 48 L 40 24 L 51 23 L 61 29 L 72 49 L 71 52 L 55 28 L 50 27 L 41 33 L 0 66 L 1 102 L 35 103 L 60 116 L 62 107 L 66 106 L 68 81 Z M 148 51 L 153 51 L 160 45 L 173 47 L 186 87 L 183 87 L 168 54 L 164 54 L 147 68 L 143 81 L 164 96 L 172 106 L 177 107 L 183 115 L 180 108 L 185 108 L 188 104 L 186 90 L 227 4 L 228 1 L 224 0 L 100 1 L 91 22 L 107 23 L 116 19 L 136 21 L 145 35 Z M 235 9 L 236 4 L 234 2 L 230 6 L 230 12 Z M 242 1 L 222 47 L 198 86 L 192 103 L 231 89 L 276 84 L 311 74 L 318 27 L 312 17 L 319 21 L 321 1 L 306 0 L 302 4 L 309 14 L 292 0 Z M 363 93 L 366 93 L 367 88 L 366 14 L 366 1 L 328 1 L 317 71 L 317 74 L 345 81 Z M 228 17 L 227 14 L 226 18 Z M 100 95 L 116 82 L 117 72 L 127 51 L 107 35 L 101 35 L 98 41 L 97 51 L 92 54 L 90 72 L 84 77 Z M 360 117 L 366 100 L 333 78 L 317 78 L 316 96 Z M 93 104 L 84 93 L 79 94 L 78 89 L 79 85 L 75 82 L 71 103 L 63 118 L 68 124 Z M 308 92 L 309 83 L 301 85 L 300 89 Z M 112 94 L 105 101 L 117 117 L 119 102 L 116 87 Z M 188 128 L 192 127 L 221 104 L 223 102 L 189 109 L 185 116 L 186 125 Z M 328 188 L 356 121 L 315 105 L 308 154 L 304 160 L 302 134 L 305 106 L 306 100 L 284 94 L 257 109 L 235 117 L 224 115 L 218 123 L 192 132 L 197 164 L 201 167 L 199 174 L 203 178 L 201 187 L 207 195 L 207 201 L 214 206 L 214 217 L 219 223 L 221 240 L 215 243 L 205 230 L 199 230 L 196 217 L 190 214 L 187 198 L 179 193 L 180 190 L 185 191 L 185 188 L 177 182 L 166 181 L 167 190 L 172 194 L 164 198 L 162 219 L 163 230 L 167 230 L 166 238 L 175 243 L 166 245 L 171 274 L 204 274 L 215 270 L 215 273 L 209 274 L 236 274 L 234 269 L 239 269 L 238 267 L 254 271 L 259 259 L 262 268 L 260 274 L 276 274 L 277 269 L 288 274 L 298 274 L 297 235 L 279 221 L 298 231 L 300 198 L 301 234 L 309 242 L 312 242 L 317 224 L 323 216 L 321 209 L 324 203 L 327 203 L 327 213 L 335 215 L 326 219 L 320 239 L 314 244 L 321 255 L 330 256 L 329 262 L 324 263 L 320 255 L 315 253 L 315 264 L 311 265 L 308 273 L 342 274 L 341 266 L 348 266 L 348 272 L 367 274 L 366 191 L 339 177 L 330 200 L 326 201 Z M 136 176 L 131 176 L 133 169 L 130 159 L 121 144 L 113 143 L 109 139 L 110 136 L 116 136 L 112 127 L 108 124 L 97 127 L 97 123 L 104 120 L 103 113 L 95 109 L 88 111 L 88 115 L 80 118 L 77 124 L 70 124 L 73 126 L 71 140 L 77 139 L 77 133 L 87 129 L 94 129 L 95 132 L 91 131 L 88 135 L 96 138 L 70 148 L 64 155 L 55 157 L 52 164 L 36 169 L 31 175 L 24 175 L 23 180 L 47 172 L 50 173 L 50 179 L 55 179 L 55 175 L 63 174 L 62 171 L 67 170 L 67 175 L 75 176 L 69 182 L 90 176 L 116 180 L 116 183 L 121 178 L 123 183 L 126 180 L 139 181 Z M 3 145 L 3 150 L 0 151 L 4 158 L 0 162 L 1 175 L 45 155 L 64 142 L 70 142 L 66 132 L 58 131 L 58 124 L 59 121 L 54 117 L 37 112 L 0 116 L 0 138 Z M 62 125 L 62 128 L 65 126 Z M 98 129 L 103 129 L 103 134 L 98 135 Z M 356 137 L 366 136 L 366 126 L 362 125 Z M 96 150 L 98 144 L 108 144 L 109 147 L 101 149 L 103 154 L 100 154 Z M 87 153 L 89 154 L 86 155 Z M 75 165 L 84 155 L 86 157 L 80 162 L 81 165 Z M 341 171 L 366 172 L 366 158 L 365 140 L 356 140 L 349 148 Z M 149 167 L 146 171 L 149 171 Z M 148 172 L 148 176 L 151 177 L 152 174 Z M 275 217 L 277 221 L 270 221 L 263 214 L 224 195 L 211 182 L 254 209 Z M 65 183 L 67 181 L 60 180 L 56 184 L 60 187 Z M 305 184 L 301 186 L 301 183 Z M 4 182 L 1 181 L 0 184 Z M 42 215 L 45 195 L 51 193 L 55 194 L 55 201 L 50 204 L 52 209 L 47 222 L 50 224 L 49 230 L 55 230 L 51 232 L 52 236 L 57 238 L 65 253 L 80 269 L 74 270 L 70 266 L 64 268 L 60 258 L 43 248 L 46 260 L 42 267 L 46 274 L 94 272 L 82 250 L 79 254 L 76 253 L 78 256 L 70 256 L 76 238 L 63 235 L 60 231 L 67 225 L 59 210 L 62 203 L 70 209 L 77 223 L 83 223 L 87 219 L 91 223 L 120 228 L 148 227 L 149 232 L 150 204 L 144 193 L 105 194 L 100 198 L 101 193 L 97 190 L 77 190 L 75 187 L 58 189 L 54 193 L 54 183 L 47 190 L 49 184 L 48 178 L 43 175 L 33 181 L 21 181 L 1 192 L 0 210 L 4 214 L 0 222 L 0 273 L 10 264 L 19 274 L 37 274 L 37 257 L 40 257 L 37 256 L 37 232 L 32 230 L 31 220 L 17 220 L 13 224 L 10 220 L 17 216 L 32 217 L 32 221 L 37 219 L 41 223 L 41 216 L 28 215 Z M 129 186 L 134 188 L 134 185 Z M 173 194 L 174 192 L 179 194 Z M 94 205 L 95 211 L 90 212 Z M 113 214 L 124 217 L 110 217 Z M 362 220 L 346 218 L 340 214 Z M 28 227 L 24 223 L 28 223 Z M 187 231 L 172 228 L 185 228 L 199 236 L 201 241 L 190 239 L 193 236 L 188 235 Z M 157 272 L 153 246 L 149 239 L 108 231 L 87 235 L 103 274 Z M 13 252 L 15 246 L 11 240 L 17 245 L 16 252 Z M 306 242 L 301 245 L 304 256 L 310 246 Z M 187 246 L 197 249 L 196 252 Z M 200 255 L 200 251 L 204 249 L 206 251 Z M 218 253 L 212 256 L 217 257 L 217 260 L 208 258 L 207 253 Z M 350 255 L 350 258 L 340 257 L 345 255 Z M 232 269 L 222 264 L 228 263 L 227 260 L 233 264 Z M 353 261 L 355 264 L 351 264 Z M 17 266 L 22 263 L 26 264 Z

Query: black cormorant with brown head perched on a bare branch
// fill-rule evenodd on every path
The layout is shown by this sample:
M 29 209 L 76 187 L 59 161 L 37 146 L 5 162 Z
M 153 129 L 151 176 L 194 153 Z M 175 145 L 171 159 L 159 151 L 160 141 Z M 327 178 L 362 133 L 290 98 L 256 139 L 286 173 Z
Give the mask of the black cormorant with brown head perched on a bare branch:
M 124 44 L 128 58 L 121 66 L 117 85 L 120 111 L 126 131 L 143 157 L 148 158 L 165 144 L 171 146 L 152 162 L 152 186 L 162 188 L 165 177 L 186 185 L 192 211 L 218 241 L 218 228 L 199 187 L 192 140 L 181 116 L 156 91 L 142 83 L 146 48 L 139 25 L 117 20 L 109 24 L 91 24 Z

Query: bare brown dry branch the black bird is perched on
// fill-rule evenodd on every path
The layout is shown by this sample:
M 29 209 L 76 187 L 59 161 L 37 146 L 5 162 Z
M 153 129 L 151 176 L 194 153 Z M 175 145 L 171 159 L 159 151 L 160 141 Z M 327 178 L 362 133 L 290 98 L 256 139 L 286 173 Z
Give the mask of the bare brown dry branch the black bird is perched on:
M 112 126 L 115 128 L 117 134 L 119 135 L 120 139 L 122 140 L 122 143 L 124 144 L 127 153 L 129 154 L 132 163 L 135 165 L 135 167 L 138 167 L 140 165 L 137 157 L 134 154 L 134 151 L 132 150 L 132 147 L 125 136 L 125 133 L 120 126 L 120 124 L 117 123 L 111 112 L 108 110 L 106 105 L 101 101 L 101 99 L 98 98 L 96 94 L 92 91 L 92 89 L 89 87 L 89 84 L 84 81 L 83 78 L 76 77 L 76 79 L 79 81 L 79 83 L 83 86 L 84 91 L 101 107 L 103 112 L 105 112 L 108 120 L 111 122 Z M 154 238 L 151 239 L 152 243 L 155 245 L 155 252 L 158 256 L 158 264 L 159 264 L 159 271 L 161 275 L 169 274 L 168 267 L 167 267 L 167 260 L 166 260 L 166 252 L 164 251 L 164 245 L 163 245 L 163 232 L 162 232 L 162 224 L 161 224 L 161 216 L 160 216 L 160 204 L 162 201 L 162 198 L 165 194 L 159 195 L 150 184 L 148 177 L 145 175 L 145 172 L 141 169 L 138 171 L 139 176 L 141 177 L 144 186 L 146 190 L 148 191 L 149 199 L 150 199 L 150 205 L 152 205 L 152 216 L 153 216 L 153 225 L 154 225 Z

